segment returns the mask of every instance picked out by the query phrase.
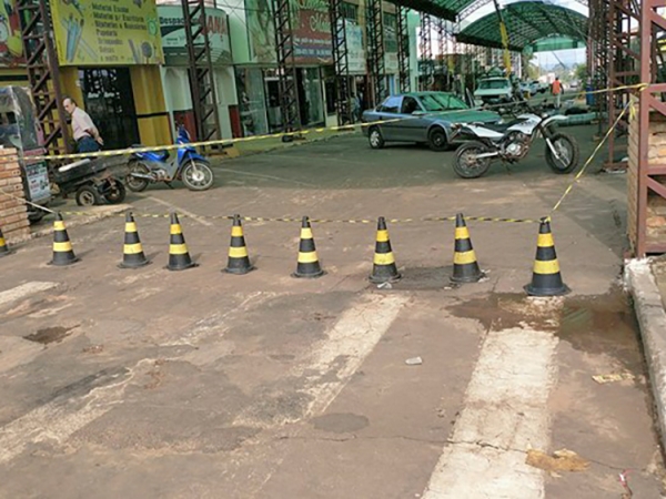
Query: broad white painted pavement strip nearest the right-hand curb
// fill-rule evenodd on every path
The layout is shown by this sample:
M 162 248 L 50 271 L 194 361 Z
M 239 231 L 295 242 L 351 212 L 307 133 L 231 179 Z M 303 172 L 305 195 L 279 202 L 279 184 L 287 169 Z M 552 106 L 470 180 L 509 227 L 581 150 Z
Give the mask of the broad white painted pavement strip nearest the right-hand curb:
M 545 497 L 543 472 L 525 464 L 525 452 L 549 444 L 556 347 L 552 334 L 528 328 L 487 335 L 424 499 Z

